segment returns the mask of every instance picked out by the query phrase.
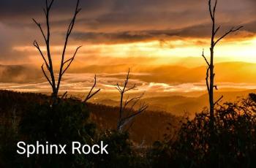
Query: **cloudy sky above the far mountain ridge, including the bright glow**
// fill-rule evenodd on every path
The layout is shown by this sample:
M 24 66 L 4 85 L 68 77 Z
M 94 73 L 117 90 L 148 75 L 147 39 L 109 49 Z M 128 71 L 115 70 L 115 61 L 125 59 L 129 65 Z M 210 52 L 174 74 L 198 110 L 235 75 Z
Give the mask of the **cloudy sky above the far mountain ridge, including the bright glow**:
M 31 18 L 45 26 L 44 6 L 43 0 L 0 2 L 0 64 L 42 64 L 32 44 L 37 39 L 43 50 L 45 45 Z M 233 26 L 244 28 L 219 44 L 217 61 L 256 62 L 255 7 L 255 0 L 218 1 L 219 34 Z M 80 8 L 67 49 L 67 56 L 72 56 L 75 47 L 83 45 L 76 67 L 175 64 L 178 58 L 199 58 L 209 46 L 211 19 L 206 0 L 81 0 Z M 56 64 L 74 9 L 75 1 L 54 1 L 50 28 Z

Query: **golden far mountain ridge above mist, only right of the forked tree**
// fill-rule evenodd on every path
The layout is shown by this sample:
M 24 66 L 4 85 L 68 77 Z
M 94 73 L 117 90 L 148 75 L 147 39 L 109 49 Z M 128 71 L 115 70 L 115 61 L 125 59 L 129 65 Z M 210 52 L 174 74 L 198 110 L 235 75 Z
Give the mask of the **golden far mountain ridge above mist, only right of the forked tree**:
M 72 69 L 76 73 L 107 73 L 105 77 L 124 77 L 113 75 L 126 72 L 131 67 L 132 72 L 144 72 L 143 75 L 131 75 L 132 78 L 155 83 L 197 83 L 205 80 L 206 66 L 188 68 L 185 66 L 140 66 L 140 65 L 91 65 L 80 69 Z M 225 62 L 215 64 L 216 81 L 232 83 L 256 83 L 256 64 L 246 62 Z

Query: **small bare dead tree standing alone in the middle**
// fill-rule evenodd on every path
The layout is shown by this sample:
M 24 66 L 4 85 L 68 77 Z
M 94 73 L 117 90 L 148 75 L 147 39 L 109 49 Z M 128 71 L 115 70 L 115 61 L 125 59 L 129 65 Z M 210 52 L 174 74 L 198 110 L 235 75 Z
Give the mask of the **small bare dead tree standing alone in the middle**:
M 124 101 L 124 94 L 127 93 L 127 91 L 131 91 L 136 88 L 135 84 L 129 88 L 128 82 L 129 71 L 127 73 L 126 79 L 124 80 L 123 87 L 116 83 L 116 89 L 120 93 L 119 118 L 117 123 L 117 130 L 120 132 L 124 131 L 124 126 L 127 126 L 127 124 L 133 121 L 136 116 L 140 115 L 140 113 L 144 112 L 148 108 L 148 105 L 143 102 L 140 103 L 138 109 L 135 110 L 135 106 L 140 102 L 140 99 L 143 97 L 144 93 L 131 99 L 129 99 L 129 96 L 127 96 L 127 99 Z M 129 128 L 130 127 L 128 127 L 128 129 Z

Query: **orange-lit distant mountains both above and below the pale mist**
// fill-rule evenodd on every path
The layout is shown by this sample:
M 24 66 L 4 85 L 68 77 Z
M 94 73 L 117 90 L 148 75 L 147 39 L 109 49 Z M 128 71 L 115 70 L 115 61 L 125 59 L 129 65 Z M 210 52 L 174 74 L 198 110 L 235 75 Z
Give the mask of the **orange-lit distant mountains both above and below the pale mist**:
M 71 69 L 69 73 L 94 73 L 102 77 L 124 78 L 128 65 L 112 66 L 86 66 L 83 69 Z M 248 85 L 256 85 L 256 64 L 244 62 L 226 62 L 215 64 L 216 82 L 230 83 L 229 88 L 220 88 L 215 94 L 215 99 L 223 95 L 225 101 L 236 101 L 238 96 L 247 96 L 256 90 L 249 90 Z M 184 67 L 184 66 L 132 66 L 133 80 L 145 81 L 146 83 L 171 83 L 173 87 L 182 83 L 201 83 L 205 85 L 206 66 Z M 113 79 L 112 79 L 113 80 Z M 39 83 L 45 82 L 45 78 L 38 67 L 31 65 L 0 65 L 0 83 Z M 78 80 L 79 82 L 79 80 Z M 239 83 L 240 88 L 234 87 Z M 253 88 L 253 87 L 252 87 Z M 118 106 L 118 95 L 107 97 L 97 96 L 93 102 Z M 100 95 L 100 94 L 99 94 Z M 200 112 L 208 105 L 206 92 L 191 93 L 149 93 L 143 101 L 149 104 L 149 110 L 160 110 L 171 112 L 175 115 L 183 115 L 184 112 Z

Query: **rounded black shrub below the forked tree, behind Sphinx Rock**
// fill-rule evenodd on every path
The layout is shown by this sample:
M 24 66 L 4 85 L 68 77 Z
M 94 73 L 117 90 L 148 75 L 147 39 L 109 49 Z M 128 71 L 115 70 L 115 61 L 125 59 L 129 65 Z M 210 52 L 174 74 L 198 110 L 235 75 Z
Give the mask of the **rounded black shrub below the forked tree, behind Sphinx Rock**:
M 85 104 L 75 99 L 61 100 L 58 104 L 34 104 L 20 121 L 20 136 L 24 142 L 67 145 L 67 155 L 33 155 L 26 159 L 26 167 L 84 167 L 89 166 L 89 155 L 72 155 L 72 142 L 93 143 L 95 126 L 89 122 Z

